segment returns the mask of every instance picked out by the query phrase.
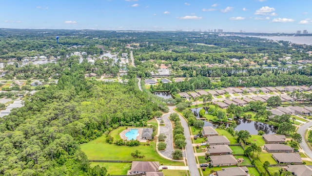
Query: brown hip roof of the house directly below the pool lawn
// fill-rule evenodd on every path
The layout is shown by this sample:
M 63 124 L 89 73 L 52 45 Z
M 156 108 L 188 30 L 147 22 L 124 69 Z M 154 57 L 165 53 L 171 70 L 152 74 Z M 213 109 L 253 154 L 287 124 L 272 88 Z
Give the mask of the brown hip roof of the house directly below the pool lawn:
M 131 171 L 157 172 L 159 166 L 158 161 L 132 161 Z

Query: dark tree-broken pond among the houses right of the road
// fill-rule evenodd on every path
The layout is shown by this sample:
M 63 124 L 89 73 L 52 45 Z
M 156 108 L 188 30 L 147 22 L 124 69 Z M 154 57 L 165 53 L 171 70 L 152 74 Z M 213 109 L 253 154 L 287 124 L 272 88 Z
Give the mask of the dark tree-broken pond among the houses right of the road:
M 206 107 L 205 107 L 206 108 Z M 199 110 L 201 110 L 202 107 L 200 108 L 192 108 L 190 109 L 196 118 L 199 118 Z M 206 109 L 206 113 L 207 113 Z M 247 130 L 250 132 L 250 134 L 258 134 L 258 131 L 261 130 L 265 132 L 265 134 L 275 134 L 277 128 L 274 127 L 273 125 L 265 124 L 262 122 L 255 122 L 252 120 L 246 120 L 246 119 L 237 119 L 235 120 L 237 127 L 235 130 L 240 131 L 240 130 Z M 222 123 L 214 123 L 214 122 L 208 122 L 204 120 L 204 126 L 211 126 L 214 128 L 218 128 Z

